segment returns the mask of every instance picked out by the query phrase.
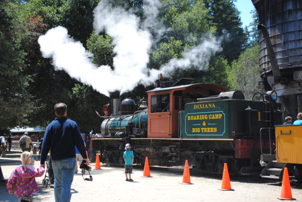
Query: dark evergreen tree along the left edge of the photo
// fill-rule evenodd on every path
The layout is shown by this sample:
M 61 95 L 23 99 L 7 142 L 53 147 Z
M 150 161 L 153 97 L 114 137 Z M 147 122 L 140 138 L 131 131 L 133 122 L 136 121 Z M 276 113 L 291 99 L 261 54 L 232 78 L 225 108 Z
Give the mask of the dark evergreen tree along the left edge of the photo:
M 14 40 L 14 15 L 9 10 L 12 1 L 0 2 L 0 128 L 22 126 L 28 123 L 33 103 L 28 93 L 30 76 L 24 74 L 26 54 Z

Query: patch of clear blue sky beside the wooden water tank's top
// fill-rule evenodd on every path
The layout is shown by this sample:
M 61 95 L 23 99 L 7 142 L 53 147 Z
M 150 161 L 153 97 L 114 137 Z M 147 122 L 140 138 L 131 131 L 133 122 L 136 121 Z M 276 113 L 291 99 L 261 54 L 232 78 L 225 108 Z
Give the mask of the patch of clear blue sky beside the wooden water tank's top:
M 255 7 L 251 0 L 237 0 L 234 2 L 237 9 L 240 13 L 241 21 L 243 23 L 243 28 L 249 26 L 249 23 L 252 22 L 252 14 L 250 13 Z

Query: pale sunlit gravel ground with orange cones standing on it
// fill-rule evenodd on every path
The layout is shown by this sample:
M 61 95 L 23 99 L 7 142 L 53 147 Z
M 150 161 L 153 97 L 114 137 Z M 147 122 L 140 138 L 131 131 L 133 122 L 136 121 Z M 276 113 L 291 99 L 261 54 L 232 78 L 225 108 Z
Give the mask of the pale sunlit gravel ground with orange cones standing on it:
M 1 161 L 0 161 L 1 162 Z M 2 172 L 8 179 L 20 162 L 1 162 Z M 36 166 L 39 166 L 36 162 Z M 94 164 L 91 164 L 94 168 Z M 263 181 L 259 177 L 230 176 L 235 191 L 220 191 L 222 176 L 190 172 L 190 185 L 182 182 L 183 168 L 150 167 L 153 178 L 141 178 L 143 167 L 134 166 L 133 182 L 125 181 L 124 168 L 101 165 L 101 170 L 90 172 L 93 181 L 83 181 L 80 172 L 72 183 L 71 201 L 280 201 L 281 182 Z M 88 174 L 84 175 L 88 177 Z M 43 177 L 36 178 L 40 191 L 34 194 L 34 201 L 54 201 L 53 186 L 44 188 Z M 291 181 L 292 196 L 302 200 L 302 185 Z M 0 183 L 0 201 L 18 201 L 8 194 L 6 183 Z

